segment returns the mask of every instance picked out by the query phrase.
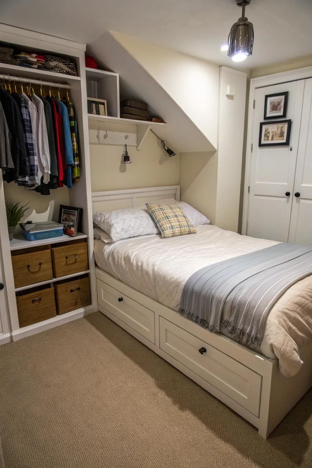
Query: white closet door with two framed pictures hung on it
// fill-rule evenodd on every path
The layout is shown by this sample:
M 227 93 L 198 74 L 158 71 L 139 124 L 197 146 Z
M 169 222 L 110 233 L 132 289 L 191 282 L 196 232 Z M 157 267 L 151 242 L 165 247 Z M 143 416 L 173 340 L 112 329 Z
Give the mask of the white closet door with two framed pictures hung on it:
M 247 235 L 288 241 L 304 86 L 304 80 L 300 80 L 259 88 L 255 92 Z M 290 146 L 259 147 L 260 122 L 265 121 L 265 95 L 283 91 L 289 92 L 285 119 L 292 121 Z

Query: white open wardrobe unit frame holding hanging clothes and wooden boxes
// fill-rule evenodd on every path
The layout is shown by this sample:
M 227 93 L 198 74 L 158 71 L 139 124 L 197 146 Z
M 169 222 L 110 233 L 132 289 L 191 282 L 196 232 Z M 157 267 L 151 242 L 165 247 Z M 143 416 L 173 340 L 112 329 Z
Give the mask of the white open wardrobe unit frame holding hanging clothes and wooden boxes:
M 28 192 L 23 187 L 19 187 L 14 183 L 3 183 L 2 174 L 0 174 L 0 263 L 2 278 L 0 282 L 4 284 L 3 294 L 5 307 L 0 310 L 0 343 L 7 341 L 7 336 L 11 336 L 13 340 L 18 340 L 23 336 L 29 336 L 33 333 L 49 329 L 61 323 L 65 323 L 76 318 L 89 314 L 97 307 L 96 295 L 96 280 L 94 271 L 93 258 L 93 223 L 92 223 L 92 204 L 91 204 L 91 176 L 90 176 L 90 161 L 89 161 L 89 141 L 88 141 L 88 119 L 87 119 L 87 92 L 86 92 L 86 73 L 85 73 L 85 44 L 67 41 L 57 37 L 48 36 L 26 29 L 15 28 L 8 25 L 0 25 L 0 41 L 6 44 L 12 44 L 13 47 L 19 50 L 38 51 L 39 53 L 50 53 L 64 55 L 72 59 L 77 66 L 78 75 L 72 76 L 63 73 L 54 73 L 34 68 L 26 68 L 11 64 L 0 63 L 0 73 L 4 73 L 5 77 L 9 75 L 11 88 L 15 84 L 19 85 L 19 77 L 29 80 L 43 80 L 51 82 L 53 90 L 58 89 L 59 84 L 69 85 L 69 94 L 76 108 L 77 124 L 79 129 L 79 149 L 80 149 L 80 167 L 81 177 L 78 183 L 73 184 L 73 188 L 67 187 L 51 190 L 51 195 L 43 197 L 39 193 Z M 9 79 L 9 77 L 5 81 Z M 23 86 L 27 86 L 23 83 Z M 49 86 L 44 86 L 45 93 L 48 94 Z M 64 90 L 63 90 L 64 91 Z M 62 92 L 62 89 L 61 89 Z M 41 241 L 27 241 L 22 234 L 15 234 L 14 239 L 9 241 L 6 219 L 6 191 L 9 197 L 16 201 L 27 200 L 31 197 L 31 208 L 36 213 L 36 220 L 57 220 L 55 219 L 58 213 L 58 205 L 72 205 L 82 208 L 82 227 L 81 233 L 75 237 L 63 235 L 62 237 L 44 239 Z M 25 195 L 28 194 L 26 197 Z M 54 213 L 54 216 L 53 216 Z M 59 244 L 61 242 L 87 240 L 88 254 L 88 269 L 74 274 L 69 274 L 61 278 L 53 278 L 48 281 L 38 282 L 36 284 L 27 285 L 15 288 L 13 268 L 11 261 L 11 253 L 18 255 L 18 251 L 40 247 L 49 244 Z M 27 251 L 27 250 L 26 250 Z M 16 296 L 15 293 L 21 292 L 37 286 L 53 285 L 56 281 L 65 280 L 68 278 L 77 278 L 81 275 L 88 275 L 90 278 L 91 304 L 87 307 L 80 307 L 71 312 L 57 315 L 49 320 L 37 322 L 27 327 L 20 328 L 17 314 Z M 4 324 L 4 325 L 3 325 Z M 2 330 L 1 330 L 2 328 Z M 1 333 L 2 331 L 2 333 Z

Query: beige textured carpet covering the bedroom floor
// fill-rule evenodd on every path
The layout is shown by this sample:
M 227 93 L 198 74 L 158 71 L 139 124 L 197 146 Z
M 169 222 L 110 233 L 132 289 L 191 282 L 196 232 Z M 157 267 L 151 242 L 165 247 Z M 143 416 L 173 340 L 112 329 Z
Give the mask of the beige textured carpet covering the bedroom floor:
M 0 431 L 1 468 L 312 467 L 312 392 L 265 441 L 96 313 L 0 346 Z

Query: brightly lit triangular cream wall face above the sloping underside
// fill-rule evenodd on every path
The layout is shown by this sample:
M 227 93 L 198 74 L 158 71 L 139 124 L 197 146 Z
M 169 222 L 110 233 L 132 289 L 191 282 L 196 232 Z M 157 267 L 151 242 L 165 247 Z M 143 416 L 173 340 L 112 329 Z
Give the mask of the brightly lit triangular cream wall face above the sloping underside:
M 218 65 L 120 33 L 112 35 L 217 148 Z

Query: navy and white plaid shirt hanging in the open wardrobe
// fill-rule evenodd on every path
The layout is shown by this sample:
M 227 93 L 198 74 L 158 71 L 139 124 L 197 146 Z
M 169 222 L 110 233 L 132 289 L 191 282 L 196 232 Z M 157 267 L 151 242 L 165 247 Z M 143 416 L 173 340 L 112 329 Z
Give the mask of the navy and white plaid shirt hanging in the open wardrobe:
M 28 105 L 25 99 L 22 97 L 22 123 L 24 127 L 25 140 L 26 140 L 26 149 L 30 160 L 29 167 L 29 176 L 22 177 L 18 179 L 17 184 L 27 187 L 35 187 L 39 185 L 40 181 L 38 180 L 38 157 L 36 153 L 36 148 L 34 146 L 31 120 L 29 116 Z

